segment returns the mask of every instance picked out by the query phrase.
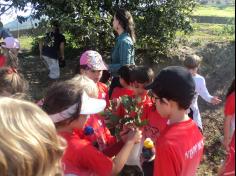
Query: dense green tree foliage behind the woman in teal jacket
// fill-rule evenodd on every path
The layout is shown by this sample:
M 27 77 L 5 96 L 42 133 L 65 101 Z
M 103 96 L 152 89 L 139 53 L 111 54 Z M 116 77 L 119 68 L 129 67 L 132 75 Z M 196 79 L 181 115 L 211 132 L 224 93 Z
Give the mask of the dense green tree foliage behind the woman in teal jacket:
M 114 9 L 124 7 L 131 11 L 136 23 L 136 48 L 157 53 L 168 51 L 176 31 L 191 31 L 190 15 L 196 5 L 195 0 L 13 0 L 9 5 L 24 10 L 27 3 L 33 7 L 34 18 L 60 20 L 71 36 L 71 44 L 101 52 L 113 46 Z M 1 5 L 1 12 L 4 8 Z

